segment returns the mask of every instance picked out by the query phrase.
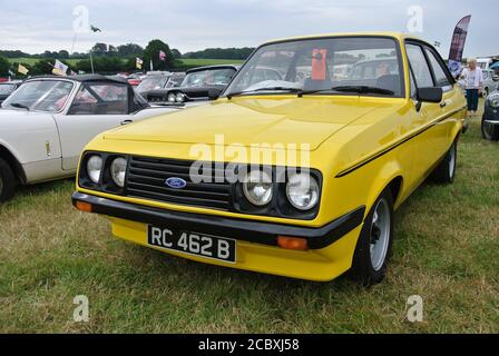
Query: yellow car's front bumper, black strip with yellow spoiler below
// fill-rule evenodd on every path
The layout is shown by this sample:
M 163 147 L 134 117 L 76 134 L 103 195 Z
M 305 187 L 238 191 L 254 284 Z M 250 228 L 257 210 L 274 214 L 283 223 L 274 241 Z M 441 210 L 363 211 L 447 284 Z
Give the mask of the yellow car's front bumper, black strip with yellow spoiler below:
M 147 226 L 223 236 L 237 240 L 237 261 L 227 266 L 202 257 L 170 253 L 193 260 L 226 267 L 311 280 L 331 280 L 350 269 L 362 228 L 365 207 L 360 207 L 320 228 L 157 209 L 75 192 L 72 204 L 90 204 L 91 212 L 112 222 L 114 235 L 147 246 Z M 305 238 L 307 251 L 277 247 L 277 236 Z

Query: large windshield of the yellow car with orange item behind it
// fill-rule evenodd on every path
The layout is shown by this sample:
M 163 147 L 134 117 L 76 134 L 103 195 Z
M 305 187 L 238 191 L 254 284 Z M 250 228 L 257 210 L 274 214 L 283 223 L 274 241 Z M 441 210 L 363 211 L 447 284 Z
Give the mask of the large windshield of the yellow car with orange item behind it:
M 402 96 L 394 39 L 349 37 L 263 46 L 237 73 L 225 96 L 317 92 Z M 262 76 L 263 70 L 278 78 Z

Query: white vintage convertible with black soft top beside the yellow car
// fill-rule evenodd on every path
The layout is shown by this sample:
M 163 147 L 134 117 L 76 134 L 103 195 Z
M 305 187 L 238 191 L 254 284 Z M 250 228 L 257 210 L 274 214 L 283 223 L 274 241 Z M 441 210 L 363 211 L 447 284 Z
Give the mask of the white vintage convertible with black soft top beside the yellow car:
M 102 76 L 26 81 L 0 110 L 0 202 L 18 185 L 75 176 L 98 134 L 178 108 L 153 108 L 129 83 Z

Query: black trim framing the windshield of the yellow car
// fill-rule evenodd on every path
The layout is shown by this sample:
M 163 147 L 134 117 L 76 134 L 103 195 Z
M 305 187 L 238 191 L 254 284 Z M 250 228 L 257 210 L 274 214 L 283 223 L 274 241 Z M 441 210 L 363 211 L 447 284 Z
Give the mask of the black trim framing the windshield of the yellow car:
M 219 96 L 219 98 L 227 98 L 227 89 L 232 86 L 232 83 L 234 82 L 235 78 L 238 76 L 239 72 L 243 71 L 243 69 L 246 68 L 246 66 L 250 63 L 251 59 L 263 48 L 263 47 L 267 47 L 267 46 L 272 46 L 272 44 L 278 44 L 278 43 L 288 43 L 288 42 L 299 42 L 299 41 L 307 41 L 307 40 L 326 40 L 326 39 L 354 39 L 354 38 L 376 38 L 376 39 L 388 39 L 388 40 L 392 40 L 395 44 L 395 51 L 397 51 L 397 56 L 398 56 L 398 62 L 399 62 L 399 71 L 401 71 L 401 76 L 400 76 L 400 96 L 383 96 L 383 95 L 376 95 L 376 93 L 366 93 L 366 95 L 362 95 L 363 97 L 378 97 L 378 98 L 391 98 L 391 99 L 408 99 L 407 96 L 407 83 L 405 83 L 405 66 L 403 63 L 403 58 L 402 58 L 402 44 L 403 42 L 394 37 L 394 36 L 383 36 L 383 34 L 345 34 L 345 36 L 317 36 L 317 37 L 306 37 L 306 38 L 294 38 L 294 39 L 286 39 L 286 40 L 277 40 L 277 41 L 272 41 L 272 42 L 266 42 L 260 47 L 257 47 L 253 53 L 246 59 L 246 61 L 244 62 L 244 65 L 237 70 L 236 75 L 231 79 L 231 81 L 228 82 L 228 85 L 225 87 L 224 91 L 222 92 L 222 95 Z M 260 93 L 258 93 L 260 95 Z M 272 93 L 271 93 L 272 95 Z M 278 93 L 274 93 L 274 95 L 283 95 L 282 92 Z M 335 96 L 334 93 L 317 93 L 317 95 L 322 95 L 322 96 Z M 252 96 L 251 93 L 248 96 Z M 337 93 L 336 93 L 337 96 Z M 348 92 L 342 92 L 341 96 L 354 96 L 354 97 L 359 97 L 359 93 L 348 93 Z

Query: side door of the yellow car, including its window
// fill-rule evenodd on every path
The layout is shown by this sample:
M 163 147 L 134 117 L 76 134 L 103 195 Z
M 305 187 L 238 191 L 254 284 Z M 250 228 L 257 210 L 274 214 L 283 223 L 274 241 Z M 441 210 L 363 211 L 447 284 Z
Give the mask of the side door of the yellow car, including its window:
M 408 42 L 405 44 L 408 60 L 413 83 L 411 96 L 413 98 L 412 108 L 412 130 L 418 135 L 411 140 L 414 152 L 413 172 L 417 179 L 422 180 L 434 164 L 449 149 L 450 126 L 440 122 L 440 119 L 448 115 L 452 108 L 453 87 L 446 85 L 443 89 L 443 100 L 441 103 L 420 103 L 417 99 L 418 88 L 437 87 L 433 69 L 428 57 L 427 48 L 419 42 Z M 442 81 L 442 86 L 444 82 Z

